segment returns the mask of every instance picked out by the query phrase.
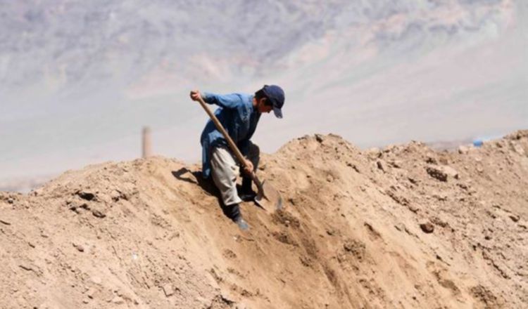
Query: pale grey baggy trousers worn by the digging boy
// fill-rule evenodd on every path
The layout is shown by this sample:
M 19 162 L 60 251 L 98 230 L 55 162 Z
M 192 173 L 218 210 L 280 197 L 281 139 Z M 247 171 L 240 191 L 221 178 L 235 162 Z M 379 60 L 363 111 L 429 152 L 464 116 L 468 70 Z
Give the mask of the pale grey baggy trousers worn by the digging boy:
M 258 167 L 260 149 L 250 142 L 247 159 L 253 163 L 253 171 Z M 213 147 L 211 152 L 211 176 L 220 190 L 222 201 L 225 205 L 242 202 L 237 192 L 237 176 L 240 174 L 240 163 L 228 147 Z

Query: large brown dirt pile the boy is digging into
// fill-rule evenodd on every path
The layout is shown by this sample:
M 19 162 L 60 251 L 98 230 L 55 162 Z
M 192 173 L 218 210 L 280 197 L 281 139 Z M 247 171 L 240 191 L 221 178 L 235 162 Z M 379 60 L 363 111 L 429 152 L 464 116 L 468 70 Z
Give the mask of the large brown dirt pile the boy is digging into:
M 528 131 L 480 148 L 263 155 L 284 211 L 241 232 L 199 166 L 162 157 L 0 193 L 1 308 L 524 308 Z

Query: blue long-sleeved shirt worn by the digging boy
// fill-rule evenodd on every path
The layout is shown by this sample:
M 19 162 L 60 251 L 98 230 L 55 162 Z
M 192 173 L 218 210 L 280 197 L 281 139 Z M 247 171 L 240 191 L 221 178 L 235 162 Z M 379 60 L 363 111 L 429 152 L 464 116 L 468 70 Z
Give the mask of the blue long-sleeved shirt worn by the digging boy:
M 215 111 L 215 116 L 224 126 L 233 142 L 237 144 L 242 155 L 247 155 L 249 140 L 255 133 L 260 119 L 260 112 L 253 107 L 253 95 L 245 93 L 227 95 L 202 93 L 202 98 L 208 104 L 219 106 Z M 203 178 L 208 178 L 211 169 L 211 150 L 218 145 L 225 145 L 228 148 L 229 145 L 211 119 L 207 121 L 206 127 L 201 133 L 200 143 L 202 146 L 202 174 Z

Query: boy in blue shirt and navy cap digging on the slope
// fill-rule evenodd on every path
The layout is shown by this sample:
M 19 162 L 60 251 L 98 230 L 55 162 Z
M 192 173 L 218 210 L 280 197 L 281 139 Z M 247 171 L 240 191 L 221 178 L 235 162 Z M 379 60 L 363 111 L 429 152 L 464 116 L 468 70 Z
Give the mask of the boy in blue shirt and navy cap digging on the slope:
M 239 228 L 246 230 L 248 225 L 242 218 L 239 203 L 249 201 L 255 197 L 251 189 L 251 171 L 256 171 L 259 159 L 257 145 L 251 143 L 251 136 L 255 133 L 260 115 L 273 110 L 277 118 L 282 118 L 284 105 L 284 91 L 276 85 L 265 85 L 254 95 L 232 93 L 218 95 L 214 93 L 200 93 L 191 91 L 191 99 L 198 101 L 202 98 L 208 104 L 218 105 L 215 116 L 222 124 L 225 131 L 237 144 L 240 152 L 246 157 L 246 168 L 242 173 L 242 186 L 240 195 L 237 192 L 237 173 L 239 164 L 232 154 L 227 140 L 216 129 L 212 120 L 206 124 L 201 133 L 202 145 L 202 173 L 204 178 L 213 178 L 222 202 L 226 206 L 226 215 L 232 219 Z

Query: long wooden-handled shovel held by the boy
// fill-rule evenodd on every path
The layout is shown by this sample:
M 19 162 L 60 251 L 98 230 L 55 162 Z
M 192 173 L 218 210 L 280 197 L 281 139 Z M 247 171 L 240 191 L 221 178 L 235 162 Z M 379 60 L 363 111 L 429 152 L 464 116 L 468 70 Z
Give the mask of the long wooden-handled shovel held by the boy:
M 216 118 L 215 114 L 213 114 L 213 112 L 209 110 L 209 107 L 207 107 L 206 103 L 203 102 L 203 99 L 201 97 L 199 97 L 198 101 L 201 107 L 206 110 L 210 119 L 213 119 L 216 129 L 222 132 L 222 135 L 227 140 L 227 143 L 230 145 L 230 148 L 232 152 L 234 152 L 234 155 L 236 155 L 237 159 L 239 159 L 239 162 L 244 165 L 244 168 L 248 167 L 246 166 L 246 159 L 244 159 L 244 156 L 241 154 L 239 148 L 233 142 L 229 134 L 227 134 L 227 131 L 225 131 L 222 124 L 220 124 L 220 121 L 218 121 L 218 118 Z M 251 171 L 250 176 L 253 180 L 253 183 L 255 183 L 258 188 L 257 196 L 255 197 L 255 202 L 257 203 L 257 205 L 263 209 L 282 209 L 282 197 L 280 196 L 279 191 L 273 188 L 273 186 L 267 183 L 265 180 L 260 181 L 254 171 Z

